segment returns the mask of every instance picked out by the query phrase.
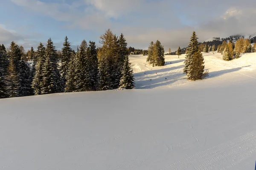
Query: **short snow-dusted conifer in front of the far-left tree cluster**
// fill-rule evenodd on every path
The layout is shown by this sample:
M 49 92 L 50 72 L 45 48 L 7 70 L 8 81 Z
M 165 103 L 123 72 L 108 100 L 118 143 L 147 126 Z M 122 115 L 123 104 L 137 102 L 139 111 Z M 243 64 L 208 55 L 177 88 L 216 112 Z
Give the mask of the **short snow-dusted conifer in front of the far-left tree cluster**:
M 6 94 L 8 97 L 19 96 L 19 77 L 15 68 L 14 61 L 12 57 L 10 58 L 10 63 L 7 69 L 6 75 Z

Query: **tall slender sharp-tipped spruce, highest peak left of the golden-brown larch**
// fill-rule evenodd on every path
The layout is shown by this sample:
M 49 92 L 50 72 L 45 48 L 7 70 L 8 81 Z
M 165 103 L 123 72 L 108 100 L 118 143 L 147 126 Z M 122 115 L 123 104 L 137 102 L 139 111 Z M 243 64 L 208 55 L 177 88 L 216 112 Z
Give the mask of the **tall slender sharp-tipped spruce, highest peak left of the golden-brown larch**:
M 68 72 L 68 67 L 70 63 L 70 58 L 72 56 L 73 50 L 70 47 L 70 42 L 68 42 L 67 36 L 65 37 L 64 43 L 63 43 L 63 48 L 62 48 L 62 57 L 61 57 L 61 76 L 66 83 L 67 80 L 67 72 Z

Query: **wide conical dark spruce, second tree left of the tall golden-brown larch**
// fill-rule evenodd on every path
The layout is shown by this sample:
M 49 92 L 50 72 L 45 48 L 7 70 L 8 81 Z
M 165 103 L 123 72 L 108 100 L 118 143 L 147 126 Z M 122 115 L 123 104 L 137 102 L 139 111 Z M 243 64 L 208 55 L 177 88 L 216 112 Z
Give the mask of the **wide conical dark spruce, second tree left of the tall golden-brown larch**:
M 74 85 L 76 92 L 91 91 L 89 63 L 86 57 L 87 42 L 83 40 L 79 46 L 78 59 L 76 61 L 76 81 Z

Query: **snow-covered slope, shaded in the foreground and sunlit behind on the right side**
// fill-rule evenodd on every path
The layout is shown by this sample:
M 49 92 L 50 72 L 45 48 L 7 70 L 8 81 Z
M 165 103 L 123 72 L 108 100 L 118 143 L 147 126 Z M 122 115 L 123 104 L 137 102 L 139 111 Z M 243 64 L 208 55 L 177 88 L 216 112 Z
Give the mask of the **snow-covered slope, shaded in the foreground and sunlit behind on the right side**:
M 154 68 L 134 55 L 137 89 L 0 99 L 0 169 L 253 169 L 256 53 L 203 54 L 200 81 L 184 55 Z

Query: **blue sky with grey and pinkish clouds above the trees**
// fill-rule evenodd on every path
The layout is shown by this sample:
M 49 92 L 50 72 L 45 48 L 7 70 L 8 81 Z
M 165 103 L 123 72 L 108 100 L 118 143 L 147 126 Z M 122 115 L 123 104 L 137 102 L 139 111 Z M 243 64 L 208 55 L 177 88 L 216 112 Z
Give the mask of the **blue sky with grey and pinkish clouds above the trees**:
M 256 0 L 1 0 L 0 44 L 25 49 L 67 36 L 76 49 L 110 28 L 128 46 L 148 48 L 160 40 L 168 51 L 186 47 L 192 31 L 199 41 L 256 33 Z

